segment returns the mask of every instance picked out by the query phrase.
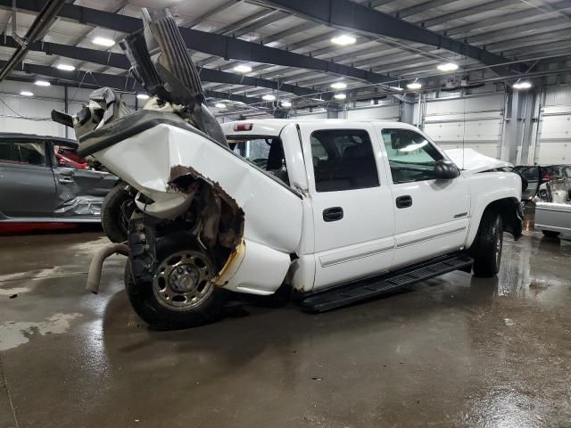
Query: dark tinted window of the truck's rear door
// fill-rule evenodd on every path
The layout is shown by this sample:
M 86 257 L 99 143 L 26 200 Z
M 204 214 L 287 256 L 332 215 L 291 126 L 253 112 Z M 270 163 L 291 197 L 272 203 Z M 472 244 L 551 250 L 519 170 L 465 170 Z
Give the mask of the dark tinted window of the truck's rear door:
M 379 185 L 377 162 L 367 131 L 328 129 L 311 134 L 311 156 L 318 192 Z

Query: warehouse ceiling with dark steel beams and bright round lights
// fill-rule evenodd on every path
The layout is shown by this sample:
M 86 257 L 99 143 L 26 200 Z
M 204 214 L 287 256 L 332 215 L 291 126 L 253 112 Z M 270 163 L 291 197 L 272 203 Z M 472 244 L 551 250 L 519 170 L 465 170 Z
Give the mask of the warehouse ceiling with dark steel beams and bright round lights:
M 17 47 L 13 22 L 25 35 L 44 4 L 0 0 L 2 64 Z M 412 82 L 419 90 L 464 78 L 512 84 L 563 76 L 571 60 L 569 0 L 77 0 L 10 78 L 137 92 L 118 42 L 141 28 L 142 7 L 170 8 L 207 95 L 230 107 L 263 105 L 268 95 L 302 105 L 340 92 L 398 94 Z M 437 70 L 448 62 L 458 69 Z

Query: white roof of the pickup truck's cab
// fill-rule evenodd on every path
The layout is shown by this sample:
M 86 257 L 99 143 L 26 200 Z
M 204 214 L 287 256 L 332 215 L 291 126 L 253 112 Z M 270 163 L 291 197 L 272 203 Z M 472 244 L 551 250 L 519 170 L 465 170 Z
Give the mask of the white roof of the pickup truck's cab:
M 417 129 L 408 123 L 380 119 L 252 119 L 235 120 L 222 123 L 222 130 L 227 136 L 279 136 L 285 125 L 290 123 L 310 123 L 324 126 L 327 123 L 343 123 L 347 126 L 359 126 L 372 123 L 383 128 Z

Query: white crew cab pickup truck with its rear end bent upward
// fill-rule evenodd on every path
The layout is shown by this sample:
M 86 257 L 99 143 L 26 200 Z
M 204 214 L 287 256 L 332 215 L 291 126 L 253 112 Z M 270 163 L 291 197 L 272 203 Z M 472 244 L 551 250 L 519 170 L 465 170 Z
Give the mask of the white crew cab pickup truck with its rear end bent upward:
M 458 168 L 410 125 L 222 128 L 229 148 L 175 114 L 137 111 L 80 139 L 139 192 L 125 281 L 150 324 L 216 319 L 227 290 L 287 287 L 324 311 L 452 270 L 494 276 L 503 232 L 522 234 L 521 178 L 505 162 L 456 151 Z

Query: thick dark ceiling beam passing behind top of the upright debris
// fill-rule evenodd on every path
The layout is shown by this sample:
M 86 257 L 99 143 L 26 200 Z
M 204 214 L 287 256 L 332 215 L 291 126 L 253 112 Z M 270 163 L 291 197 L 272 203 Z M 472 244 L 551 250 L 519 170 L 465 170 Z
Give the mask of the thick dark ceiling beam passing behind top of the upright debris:
M 12 7 L 12 0 L 0 0 L 0 7 Z M 38 12 L 41 9 L 41 4 L 36 0 L 19 0 L 18 7 L 23 10 Z M 143 28 L 143 22 L 138 18 L 103 12 L 75 4 L 64 4 L 58 16 L 105 29 L 114 29 L 123 33 L 133 33 Z M 286 52 L 282 49 L 247 42 L 239 38 L 206 33 L 196 29 L 179 29 L 189 49 L 210 53 L 221 58 L 326 71 L 352 78 L 360 78 L 372 83 L 381 83 L 390 79 L 367 70 L 311 58 L 300 53 Z

